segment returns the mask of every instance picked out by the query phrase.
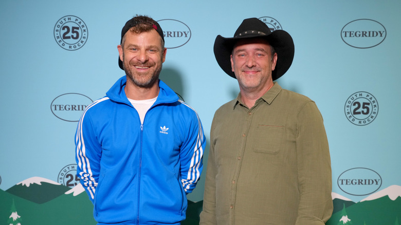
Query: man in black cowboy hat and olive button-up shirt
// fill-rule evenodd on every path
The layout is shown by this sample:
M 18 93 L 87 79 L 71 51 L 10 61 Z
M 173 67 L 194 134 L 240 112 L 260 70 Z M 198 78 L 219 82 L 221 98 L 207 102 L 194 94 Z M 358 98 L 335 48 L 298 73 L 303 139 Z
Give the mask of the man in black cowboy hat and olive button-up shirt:
M 329 144 L 312 100 L 274 82 L 294 43 L 258 18 L 214 42 L 238 97 L 216 110 L 200 224 L 324 224 L 333 211 Z

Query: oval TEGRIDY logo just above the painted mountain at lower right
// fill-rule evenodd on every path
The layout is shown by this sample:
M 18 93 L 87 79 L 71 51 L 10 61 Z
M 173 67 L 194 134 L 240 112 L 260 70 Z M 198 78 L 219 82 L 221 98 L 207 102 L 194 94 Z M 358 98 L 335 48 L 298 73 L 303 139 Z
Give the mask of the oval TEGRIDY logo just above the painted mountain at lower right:
M 337 179 L 338 187 L 345 193 L 355 196 L 370 195 L 381 186 L 381 177 L 370 168 L 351 168 Z

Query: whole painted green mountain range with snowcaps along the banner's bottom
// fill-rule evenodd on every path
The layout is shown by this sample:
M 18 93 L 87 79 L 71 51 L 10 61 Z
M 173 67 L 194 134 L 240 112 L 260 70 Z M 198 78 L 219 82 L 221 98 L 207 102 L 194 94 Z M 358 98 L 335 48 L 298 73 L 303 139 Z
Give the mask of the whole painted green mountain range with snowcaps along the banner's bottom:
M 360 202 L 332 193 L 333 216 L 326 225 L 400 225 L 401 186 L 391 185 Z M 199 224 L 202 201 L 188 201 L 182 225 Z M 57 182 L 33 177 L 7 191 L 0 190 L 0 224 L 95 225 L 93 205 L 81 185 L 70 189 Z

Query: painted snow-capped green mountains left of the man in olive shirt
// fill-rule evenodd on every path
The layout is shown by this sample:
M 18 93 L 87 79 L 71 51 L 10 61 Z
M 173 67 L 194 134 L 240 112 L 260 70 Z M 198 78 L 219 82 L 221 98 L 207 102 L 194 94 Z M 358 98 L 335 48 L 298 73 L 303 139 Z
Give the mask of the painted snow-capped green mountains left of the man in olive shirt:
M 199 224 L 202 201 L 188 201 L 187 219 L 181 224 Z M 81 184 L 70 189 L 52 180 L 32 177 L 7 191 L 0 190 L 0 224 L 95 225 L 93 204 Z

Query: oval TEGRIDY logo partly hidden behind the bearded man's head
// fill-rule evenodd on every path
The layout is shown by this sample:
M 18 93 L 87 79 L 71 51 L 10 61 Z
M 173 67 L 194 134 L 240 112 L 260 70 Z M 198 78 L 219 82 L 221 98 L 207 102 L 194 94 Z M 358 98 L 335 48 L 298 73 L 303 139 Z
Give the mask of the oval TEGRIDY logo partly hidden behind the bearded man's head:
M 191 39 L 191 29 L 181 21 L 165 19 L 157 23 L 163 28 L 166 48 L 181 47 Z

